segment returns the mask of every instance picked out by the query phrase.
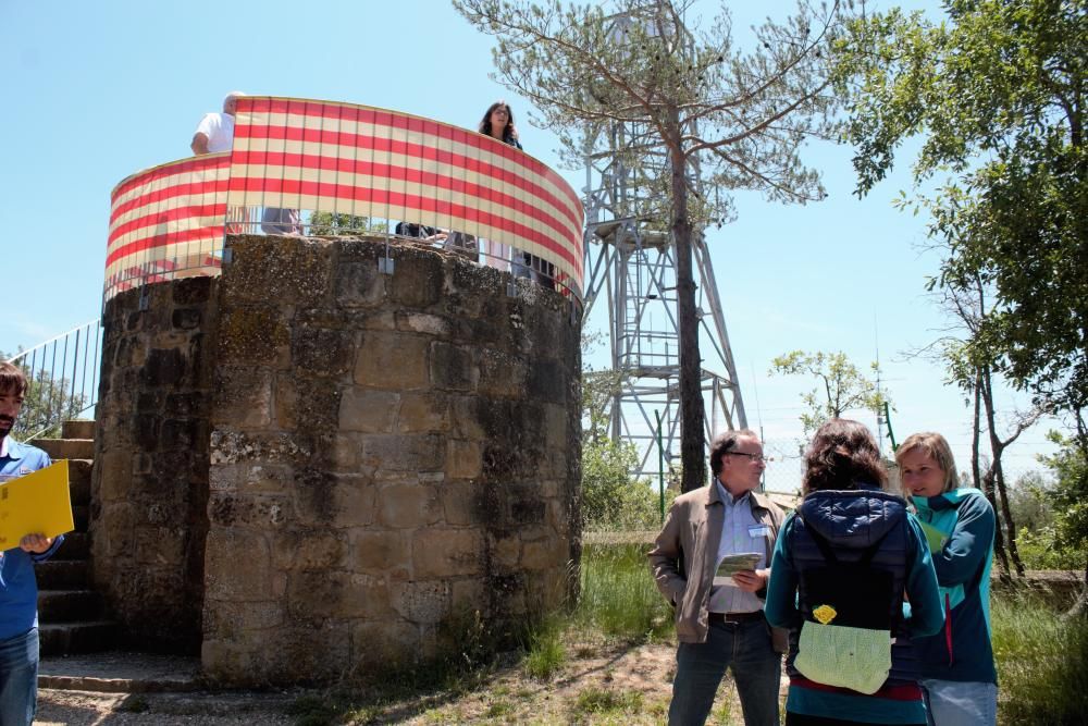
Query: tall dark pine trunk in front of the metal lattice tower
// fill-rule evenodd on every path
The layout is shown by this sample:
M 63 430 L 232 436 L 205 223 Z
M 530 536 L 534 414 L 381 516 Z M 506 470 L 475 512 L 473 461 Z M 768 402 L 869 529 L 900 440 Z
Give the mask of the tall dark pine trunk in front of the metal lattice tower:
M 690 492 L 707 483 L 706 438 L 703 435 L 702 369 L 698 354 L 698 316 L 695 310 L 695 278 L 692 272 L 691 220 L 688 219 L 688 161 L 680 150 L 680 116 L 669 115 L 672 137 L 672 242 L 677 254 L 677 328 L 680 334 L 680 491 Z

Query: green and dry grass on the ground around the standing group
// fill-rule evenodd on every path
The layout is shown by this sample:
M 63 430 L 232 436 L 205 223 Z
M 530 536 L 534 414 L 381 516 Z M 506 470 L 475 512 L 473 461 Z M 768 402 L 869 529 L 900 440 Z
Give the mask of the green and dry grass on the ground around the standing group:
M 466 716 L 459 702 L 466 697 L 466 703 L 483 701 L 485 705 L 477 706 L 481 710 L 474 718 L 491 723 L 547 724 L 559 719 L 632 726 L 663 722 L 669 701 L 664 681 L 670 678 L 664 679 L 659 692 L 643 694 L 625 690 L 619 685 L 621 674 L 614 673 L 611 665 L 603 668 L 599 679 L 581 690 L 577 689 L 582 684 L 577 682 L 562 701 L 555 700 L 560 686 L 547 681 L 554 681 L 565 668 L 577 679 L 577 661 L 611 648 L 602 639 L 622 648 L 666 639 L 672 632 L 671 608 L 654 587 L 645 545 L 588 545 L 581 578 L 582 596 L 573 612 L 533 620 L 518 638 L 520 653 L 490 659 L 494 633 L 479 614 L 468 613 L 450 626 L 456 650 L 432 667 L 406 667 L 385 678 L 378 689 L 333 689 L 302 697 L 292 709 L 296 723 L 388 723 L 412 717 L 428 724 L 462 723 Z M 1088 624 L 1084 619 L 1064 620 L 1055 607 L 1038 595 L 1015 591 L 993 596 L 1001 726 L 1088 723 Z M 510 669 L 520 672 L 521 679 L 489 690 L 496 676 L 506 674 L 508 678 Z M 712 718 L 738 722 L 740 709 L 732 685 L 721 688 Z

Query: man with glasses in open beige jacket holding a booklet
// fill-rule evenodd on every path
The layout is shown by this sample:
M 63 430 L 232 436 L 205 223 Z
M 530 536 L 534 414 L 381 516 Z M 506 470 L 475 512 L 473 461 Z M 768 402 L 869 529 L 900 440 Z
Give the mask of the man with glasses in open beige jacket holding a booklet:
M 767 624 L 763 600 L 782 510 L 753 491 L 764 468 L 754 432 L 719 434 L 710 444 L 714 481 L 677 497 L 650 553 L 657 588 L 676 607 L 680 641 L 670 725 L 706 723 L 727 667 L 746 726 L 778 724 L 787 635 Z M 745 558 L 735 555 L 747 555 L 740 570 L 734 563 Z

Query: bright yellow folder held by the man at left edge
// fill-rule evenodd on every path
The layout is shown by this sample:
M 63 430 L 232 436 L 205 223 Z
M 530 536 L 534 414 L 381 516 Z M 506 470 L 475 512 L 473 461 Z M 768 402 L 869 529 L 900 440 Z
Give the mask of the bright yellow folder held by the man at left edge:
M 73 529 L 66 459 L 0 484 L 0 550 L 17 547 L 27 534 Z

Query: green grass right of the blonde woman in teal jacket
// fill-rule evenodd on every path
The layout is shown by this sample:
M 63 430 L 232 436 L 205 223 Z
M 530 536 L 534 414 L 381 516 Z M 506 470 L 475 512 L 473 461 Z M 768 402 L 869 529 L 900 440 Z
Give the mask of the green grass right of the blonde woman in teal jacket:
M 991 608 L 999 723 L 1084 724 L 1088 623 L 1063 619 L 1038 595 L 1003 593 Z

